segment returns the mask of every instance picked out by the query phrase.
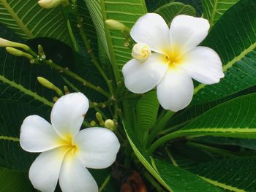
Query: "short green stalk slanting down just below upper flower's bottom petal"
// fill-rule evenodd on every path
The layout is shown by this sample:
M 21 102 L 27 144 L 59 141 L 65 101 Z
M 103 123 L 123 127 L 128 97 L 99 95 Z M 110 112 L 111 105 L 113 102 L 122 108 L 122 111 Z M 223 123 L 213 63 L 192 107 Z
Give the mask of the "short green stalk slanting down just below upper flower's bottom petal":
M 157 134 L 159 134 L 160 131 L 165 127 L 165 124 L 167 121 L 175 114 L 173 111 L 167 111 L 165 112 L 165 115 L 162 115 L 159 120 L 157 120 L 156 126 L 152 128 L 151 133 L 148 136 L 148 145 L 151 144 L 151 142 L 154 141 L 154 139 L 157 137 Z

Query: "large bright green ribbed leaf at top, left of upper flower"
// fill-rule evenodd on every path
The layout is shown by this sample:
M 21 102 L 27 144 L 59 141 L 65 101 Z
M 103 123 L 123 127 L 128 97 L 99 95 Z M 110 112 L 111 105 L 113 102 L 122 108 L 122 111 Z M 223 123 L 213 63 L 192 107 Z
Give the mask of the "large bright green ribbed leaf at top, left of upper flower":
M 125 38 L 121 31 L 109 30 L 105 26 L 105 20 L 118 20 L 128 27 L 132 27 L 135 21 L 146 13 L 145 2 L 143 0 L 89 0 L 86 1 L 86 5 L 118 81 L 121 77 L 118 70 L 131 58 L 131 50 L 124 46 Z

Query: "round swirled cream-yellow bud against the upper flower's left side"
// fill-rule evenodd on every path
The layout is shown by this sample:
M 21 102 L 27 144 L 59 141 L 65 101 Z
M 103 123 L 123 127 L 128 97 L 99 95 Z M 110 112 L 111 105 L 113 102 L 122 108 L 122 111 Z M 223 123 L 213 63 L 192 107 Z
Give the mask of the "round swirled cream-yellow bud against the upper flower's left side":
M 132 57 L 140 62 L 144 62 L 151 55 L 151 49 L 144 43 L 137 43 L 132 47 Z

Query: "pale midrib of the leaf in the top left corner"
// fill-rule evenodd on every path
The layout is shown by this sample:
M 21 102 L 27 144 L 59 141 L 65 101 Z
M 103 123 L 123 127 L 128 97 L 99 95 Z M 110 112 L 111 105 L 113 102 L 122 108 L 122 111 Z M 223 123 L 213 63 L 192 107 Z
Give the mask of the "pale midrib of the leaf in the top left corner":
M 24 34 L 26 34 L 31 39 L 34 38 L 34 34 L 32 34 L 31 31 L 29 30 L 29 28 L 27 28 L 27 26 L 23 23 L 23 21 L 20 20 L 20 18 L 14 12 L 12 7 L 10 7 L 10 4 L 8 4 L 6 0 L 0 0 L 0 2 L 7 9 L 7 11 L 10 13 L 13 20 L 15 20 L 15 22 L 18 24 L 18 26 L 20 26 L 20 28 L 22 29 Z

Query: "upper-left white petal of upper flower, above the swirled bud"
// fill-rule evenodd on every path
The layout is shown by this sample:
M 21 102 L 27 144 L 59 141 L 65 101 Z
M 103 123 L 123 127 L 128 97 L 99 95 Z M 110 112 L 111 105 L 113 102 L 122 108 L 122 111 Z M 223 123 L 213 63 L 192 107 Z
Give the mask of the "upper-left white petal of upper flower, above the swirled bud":
M 135 42 L 146 43 L 157 53 L 164 54 L 170 47 L 169 28 L 165 20 L 156 13 L 147 13 L 140 17 L 130 34 Z

